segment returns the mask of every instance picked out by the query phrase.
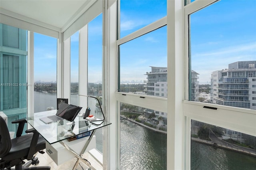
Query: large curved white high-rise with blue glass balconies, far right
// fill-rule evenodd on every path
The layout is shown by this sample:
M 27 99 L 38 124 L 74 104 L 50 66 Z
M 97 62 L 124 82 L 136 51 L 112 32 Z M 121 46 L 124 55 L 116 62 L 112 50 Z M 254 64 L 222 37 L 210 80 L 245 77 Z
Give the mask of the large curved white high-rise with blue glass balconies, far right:
M 256 61 L 237 61 L 228 69 L 213 71 L 212 103 L 256 109 Z

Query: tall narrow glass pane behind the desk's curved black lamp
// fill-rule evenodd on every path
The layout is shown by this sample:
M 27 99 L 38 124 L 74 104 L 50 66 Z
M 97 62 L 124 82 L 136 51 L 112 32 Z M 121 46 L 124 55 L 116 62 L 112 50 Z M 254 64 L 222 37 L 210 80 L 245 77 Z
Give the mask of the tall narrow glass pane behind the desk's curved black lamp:
M 102 14 L 88 24 L 88 95 L 97 97 L 102 106 Z M 95 101 L 94 99 L 93 102 Z M 88 99 L 88 105 L 91 105 L 90 102 Z M 98 106 L 92 114 L 103 119 Z M 95 133 L 96 149 L 101 153 L 102 134 L 102 128 Z

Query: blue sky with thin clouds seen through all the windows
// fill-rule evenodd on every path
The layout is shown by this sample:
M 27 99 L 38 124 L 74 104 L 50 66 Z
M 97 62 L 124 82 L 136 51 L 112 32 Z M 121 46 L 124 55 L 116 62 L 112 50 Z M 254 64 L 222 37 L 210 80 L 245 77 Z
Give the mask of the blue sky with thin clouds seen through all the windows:
M 166 0 L 121 0 L 120 6 L 121 38 L 166 16 Z M 212 71 L 228 68 L 229 63 L 256 60 L 255 14 L 256 0 L 221 0 L 190 16 L 192 69 L 200 74 L 200 83 L 209 83 Z M 88 36 L 88 81 L 98 82 L 102 79 L 102 14 L 89 23 Z M 36 81 L 56 80 L 52 74 L 56 43 L 54 38 L 35 35 Z M 144 81 L 149 66 L 166 67 L 166 43 L 165 26 L 122 44 L 121 82 Z M 78 33 L 71 37 L 71 57 L 71 81 L 78 81 Z

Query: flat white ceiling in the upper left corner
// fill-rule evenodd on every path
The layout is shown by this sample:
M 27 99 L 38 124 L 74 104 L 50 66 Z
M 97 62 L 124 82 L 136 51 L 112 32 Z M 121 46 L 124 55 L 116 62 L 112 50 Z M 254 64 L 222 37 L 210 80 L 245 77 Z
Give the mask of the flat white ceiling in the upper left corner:
M 65 30 L 92 5 L 92 1 L 0 0 L 0 12 Z

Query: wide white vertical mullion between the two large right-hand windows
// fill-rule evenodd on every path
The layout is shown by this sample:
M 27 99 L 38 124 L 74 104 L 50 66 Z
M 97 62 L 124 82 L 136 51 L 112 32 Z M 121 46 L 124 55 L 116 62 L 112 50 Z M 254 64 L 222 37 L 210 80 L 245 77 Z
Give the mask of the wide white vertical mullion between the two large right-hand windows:
M 167 1 L 167 169 L 184 169 L 184 1 Z

